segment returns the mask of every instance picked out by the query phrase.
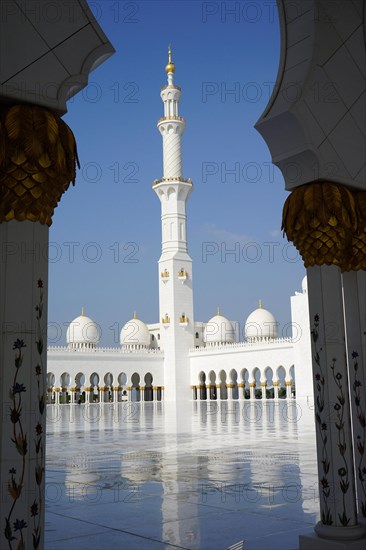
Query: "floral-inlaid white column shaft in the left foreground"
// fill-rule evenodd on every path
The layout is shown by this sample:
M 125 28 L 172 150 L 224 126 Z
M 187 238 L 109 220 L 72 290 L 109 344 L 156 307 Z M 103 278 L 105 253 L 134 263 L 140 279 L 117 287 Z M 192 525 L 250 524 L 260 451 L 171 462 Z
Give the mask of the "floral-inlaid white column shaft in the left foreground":
M 43 548 L 48 227 L 1 223 L 0 250 L 0 547 Z

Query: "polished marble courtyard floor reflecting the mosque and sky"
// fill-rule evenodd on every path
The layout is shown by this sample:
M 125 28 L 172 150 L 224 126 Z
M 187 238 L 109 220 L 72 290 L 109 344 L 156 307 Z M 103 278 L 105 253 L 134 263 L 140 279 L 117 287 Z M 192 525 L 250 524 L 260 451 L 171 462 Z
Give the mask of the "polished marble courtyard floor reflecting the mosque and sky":
M 46 550 L 290 550 L 318 519 L 306 402 L 48 405 Z

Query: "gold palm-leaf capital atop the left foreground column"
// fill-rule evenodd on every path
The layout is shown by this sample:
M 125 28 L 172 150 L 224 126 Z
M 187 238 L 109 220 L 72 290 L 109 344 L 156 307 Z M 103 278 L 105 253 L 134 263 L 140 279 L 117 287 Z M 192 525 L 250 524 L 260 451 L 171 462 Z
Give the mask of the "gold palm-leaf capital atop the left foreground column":
M 51 225 L 76 164 L 74 134 L 58 115 L 34 105 L 0 110 L 0 223 Z

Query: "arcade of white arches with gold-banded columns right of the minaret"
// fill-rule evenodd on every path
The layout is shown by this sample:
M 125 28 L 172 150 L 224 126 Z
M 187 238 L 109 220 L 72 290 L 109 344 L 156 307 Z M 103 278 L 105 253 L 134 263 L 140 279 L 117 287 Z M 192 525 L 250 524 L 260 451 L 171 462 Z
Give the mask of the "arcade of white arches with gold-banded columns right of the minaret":
M 292 365 L 286 370 L 279 365 L 275 369 L 201 371 L 192 390 L 194 400 L 289 399 L 296 394 L 295 368 Z

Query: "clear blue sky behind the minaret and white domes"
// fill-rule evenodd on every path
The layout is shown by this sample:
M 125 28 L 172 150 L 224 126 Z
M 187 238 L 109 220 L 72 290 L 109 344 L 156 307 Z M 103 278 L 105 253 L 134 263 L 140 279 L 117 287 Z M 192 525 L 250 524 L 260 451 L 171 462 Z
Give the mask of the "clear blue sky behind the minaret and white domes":
M 244 327 L 258 300 L 290 335 L 290 295 L 305 275 L 281 233 L 287 197 L 281 172 L 254 125 L 276 80 L 276 3 L 89 2 L 116 53 L 68 102 L 81 168 L 50 228 L 49 344 L 65 345 L 85 314 L 116 346 L 132 318 L 158 322 L 160 202 L 167 46 L 172 45 L 179 114 L 186 118 L 183 176 L 196 321 L 221 314 Z

